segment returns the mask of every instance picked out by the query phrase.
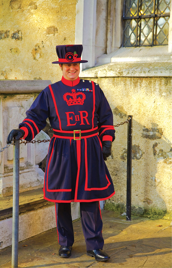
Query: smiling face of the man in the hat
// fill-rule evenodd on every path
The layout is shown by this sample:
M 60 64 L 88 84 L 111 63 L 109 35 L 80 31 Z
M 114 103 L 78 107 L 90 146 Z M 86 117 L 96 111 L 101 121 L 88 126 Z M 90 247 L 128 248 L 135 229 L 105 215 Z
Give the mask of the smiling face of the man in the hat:
M 74 81 L 78 78 L 80 72 L 79 63 L 63 63 L 63 65 L 59 65 L 65 79 Z

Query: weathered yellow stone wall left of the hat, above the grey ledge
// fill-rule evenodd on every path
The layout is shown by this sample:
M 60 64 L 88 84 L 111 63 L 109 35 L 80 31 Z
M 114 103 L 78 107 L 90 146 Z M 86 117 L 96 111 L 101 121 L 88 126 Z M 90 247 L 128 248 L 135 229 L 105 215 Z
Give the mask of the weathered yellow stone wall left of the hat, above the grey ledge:
M 56 45 L 74 44 L 77 0 L 0 1 L 0 79 L 61 79 Z

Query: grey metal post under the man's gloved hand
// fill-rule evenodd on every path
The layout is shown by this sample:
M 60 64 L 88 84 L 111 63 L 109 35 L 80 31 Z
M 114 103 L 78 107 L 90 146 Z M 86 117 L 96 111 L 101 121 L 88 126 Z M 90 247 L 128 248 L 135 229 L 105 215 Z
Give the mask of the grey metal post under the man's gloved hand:
M 14 140 L 13 157 L 13 208 L 12 208 L 12 268 L 18 267 L 19 243 L 19 169 L 20 143 Z

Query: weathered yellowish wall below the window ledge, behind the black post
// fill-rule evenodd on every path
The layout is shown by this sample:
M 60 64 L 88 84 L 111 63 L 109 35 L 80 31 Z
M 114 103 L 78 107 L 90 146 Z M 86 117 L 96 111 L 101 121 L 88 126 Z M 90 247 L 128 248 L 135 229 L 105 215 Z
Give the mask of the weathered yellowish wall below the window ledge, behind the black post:
M 114 125 L 133 115 L 132 213 L 170 217 L 171 213 L 171 78 L 99 77 L 113 111 Z M 116 194 L 105 203 L 125 211 L 127 124 L 116 127 L 112 155 L 106 164 Z

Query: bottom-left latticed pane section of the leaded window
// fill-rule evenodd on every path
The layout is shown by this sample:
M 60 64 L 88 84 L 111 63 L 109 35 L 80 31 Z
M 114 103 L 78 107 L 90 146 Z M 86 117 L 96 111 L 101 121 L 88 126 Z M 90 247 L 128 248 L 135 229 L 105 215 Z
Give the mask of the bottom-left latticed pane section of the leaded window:
M 124 46 L 134 46 L 136 43 L 136 20 L 126 20 L 124 29 Z

